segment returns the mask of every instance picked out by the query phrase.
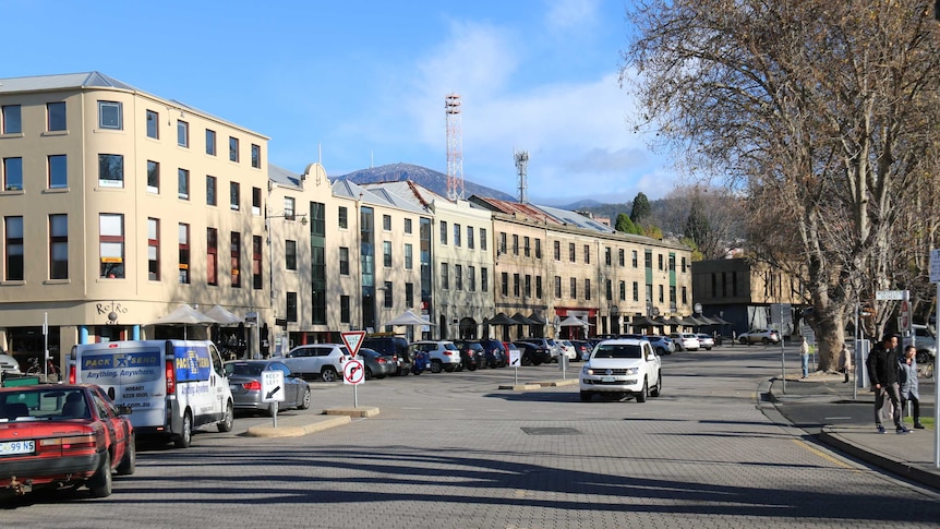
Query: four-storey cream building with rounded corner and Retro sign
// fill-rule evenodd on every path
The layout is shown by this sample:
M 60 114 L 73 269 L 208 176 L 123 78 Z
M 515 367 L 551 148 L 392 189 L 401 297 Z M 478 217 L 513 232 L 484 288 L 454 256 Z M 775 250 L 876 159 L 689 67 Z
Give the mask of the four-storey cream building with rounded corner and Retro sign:
M 0 347 L 61 361 L 183 303 L 269 308 L 267 137 L 98 72 L 0 80 Z

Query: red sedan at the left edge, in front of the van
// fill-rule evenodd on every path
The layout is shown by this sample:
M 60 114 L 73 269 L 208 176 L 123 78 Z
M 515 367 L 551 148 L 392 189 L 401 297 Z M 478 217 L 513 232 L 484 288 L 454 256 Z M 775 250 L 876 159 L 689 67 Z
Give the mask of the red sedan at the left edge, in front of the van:
M 111 471 L 134 473 L 131 421 L 100 387 L 40 384 L 0 388 L 0 494 L 43 486 L 111 494 Z

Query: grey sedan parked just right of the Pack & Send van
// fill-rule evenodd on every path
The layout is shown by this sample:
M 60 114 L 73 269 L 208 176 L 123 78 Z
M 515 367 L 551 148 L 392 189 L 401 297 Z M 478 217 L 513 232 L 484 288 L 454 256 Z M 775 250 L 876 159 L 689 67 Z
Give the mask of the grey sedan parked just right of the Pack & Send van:
M 310 385 L 279 359 L 233 360 L 225 363 L 225 370 L 237 410 L 274 414 L 274 402 L 265 402 L 261 392 L 263 371 L 280 371 L 284 374 L 284 401 L 277 404 L 278 411 L 310 408 Z

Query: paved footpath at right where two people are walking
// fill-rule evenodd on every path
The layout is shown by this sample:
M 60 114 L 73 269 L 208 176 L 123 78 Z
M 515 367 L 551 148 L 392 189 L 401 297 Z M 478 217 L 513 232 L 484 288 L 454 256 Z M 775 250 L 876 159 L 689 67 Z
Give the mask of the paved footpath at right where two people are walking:
M 897 435 L 891 422 L 887 421 L 888 433 L 879 434 L 875 430 L 875 394 L 867 388 L 856 390 L 851 383 L 844 384 L 841 374 L 815 373 L 807 378 L 787 376 L 785 385 L 784 393 L 783 381 L 778 377 L 769 381 L 760 393 L 785 417 L 791 406 L 806 406 L 808 402 L 820 406 L 824 413 L 820 416 L 818 431 L 807 431 L 808 434 L 857 459 L 940 490 L 940 469 L 933 460 L 933 430 L 912 430 L 909 434 Z M 927 394 L 921 387 L 921 417 L 932 417 L 932 388 Z M 852 406 L 855 413 L 846 413 L 847 406 Z M 825 418 L 833 423 L 828 424 Z

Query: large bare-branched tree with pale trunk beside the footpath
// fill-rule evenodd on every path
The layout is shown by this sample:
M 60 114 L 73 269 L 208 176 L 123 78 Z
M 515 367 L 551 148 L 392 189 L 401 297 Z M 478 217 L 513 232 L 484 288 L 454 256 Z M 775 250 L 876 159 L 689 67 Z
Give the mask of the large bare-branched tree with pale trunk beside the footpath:
M 628 13 L 620 79 L 639 127 L 743 193 L 749 243 L 804 280 L 822 370 L 855 302 L 899 287 L 900 226 L 937 184 L 932 4 L 640 0 Z

